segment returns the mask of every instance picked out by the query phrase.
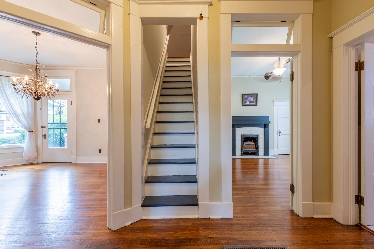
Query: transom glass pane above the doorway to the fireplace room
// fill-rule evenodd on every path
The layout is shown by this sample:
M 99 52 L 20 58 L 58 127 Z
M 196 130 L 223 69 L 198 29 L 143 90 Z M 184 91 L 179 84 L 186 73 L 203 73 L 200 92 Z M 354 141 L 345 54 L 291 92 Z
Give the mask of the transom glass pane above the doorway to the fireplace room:
M 232 44 L 286 44 L 288 27 L 233 27 Z

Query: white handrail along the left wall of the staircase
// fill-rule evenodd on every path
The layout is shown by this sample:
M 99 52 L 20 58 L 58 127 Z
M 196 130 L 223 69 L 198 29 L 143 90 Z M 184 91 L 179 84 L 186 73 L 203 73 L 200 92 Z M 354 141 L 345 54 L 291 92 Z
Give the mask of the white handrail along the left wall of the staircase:
M 149 129 L 149 127 L 151 126 L 151 121 L 152 121 L 154 110 L 158 106 L 157 103 L 156 103 L 156 99 L 157 99 L 157 96 L 159 95 L 159 91 L 160 91 L 160 88 L 162 86 L 162 78 L 161 77 L 163 76 L 163 71 L 165 70 L 165 65 L 166 65 L 166 61 L 167 61 L 166 60 L 167 59 L 166 53 L 167 53 L 167 50 L 168 50 L 168 42 L 169 42 L 169 35 L 166 37 L 165 46 L 164 46 L 164 49 L 163 49 L 163 52 L 162 52 L 162 57 L 161 57 L 161 62 L 162 63 L 160 63 L 160 66 L 159 66 L 156 85 L 154 86 L 154 91 L 153 91 L 152 99 L 151 99 L 151 105 L 150 105 L 149 112 L 148 112 L 148 115 L 147 115 L 147 121 L 145 122 L 145 128 L 147 128 L 147 129 Z

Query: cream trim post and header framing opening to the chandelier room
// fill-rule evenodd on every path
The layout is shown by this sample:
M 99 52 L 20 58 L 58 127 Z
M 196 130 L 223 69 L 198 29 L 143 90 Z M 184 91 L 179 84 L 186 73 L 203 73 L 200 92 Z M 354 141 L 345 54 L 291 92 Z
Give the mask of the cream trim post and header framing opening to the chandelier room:
M 120 0 L 98 0 L 107 6 L 107 35 L 0 0 L 0 19 L 107 49 L 108 103 L 108 228 L 125 221 L 123 115 L 123 6 Z M 112 90 L 113 89 L 113 90 Z M 112 105 L 112 102 L 115 103 Z M 39 134 L 40 135 L 40 134 Z M 37 135 L 38 136 L 38 135 Z

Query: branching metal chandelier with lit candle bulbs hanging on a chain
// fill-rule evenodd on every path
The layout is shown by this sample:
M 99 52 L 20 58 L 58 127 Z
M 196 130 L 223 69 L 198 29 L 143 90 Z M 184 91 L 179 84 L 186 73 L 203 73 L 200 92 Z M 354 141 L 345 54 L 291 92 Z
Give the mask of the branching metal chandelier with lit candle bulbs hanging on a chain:
M 16 90 L 18 95 L 33 97 L 35 100 L 40 100 L 43 97 L 55 97 L 58 93 L 58 84 L 54 85 L 53 80 L 45 78 L 47 74 L 42 75 L 42 67 L 38 62 L 38 36 L 39 32 L 32 31 L 35 35 L 35 50 L 36 50 L 36 63 L 35 66 L 31 66 L 28 71 L 33 72 L 31 79 L 27 76 L 24 78 L 21 77 L 12 77 L 13 78 L 13 88 Z M 35 73 L 35 74 L 34 74 Z

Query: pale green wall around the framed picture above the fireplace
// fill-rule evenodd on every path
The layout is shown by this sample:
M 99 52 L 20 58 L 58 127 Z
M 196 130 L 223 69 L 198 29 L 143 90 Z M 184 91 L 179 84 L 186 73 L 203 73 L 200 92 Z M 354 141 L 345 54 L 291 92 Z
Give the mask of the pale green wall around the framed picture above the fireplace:
M 274 102 L 289 100 L 289 77 L 265 80 L 264 77 L 231 78 L 231 114 L 232 116 L 269 116 L 269 149 L 274 149 Z M 243 93 L 257 93 L 257 106 L 242 106 Z

